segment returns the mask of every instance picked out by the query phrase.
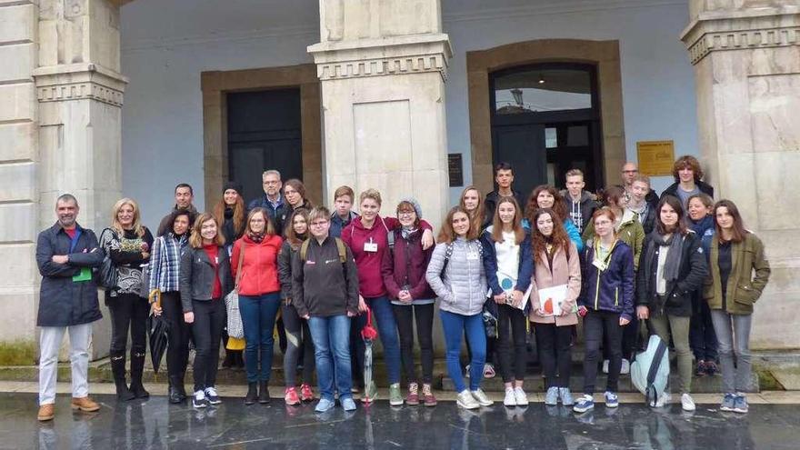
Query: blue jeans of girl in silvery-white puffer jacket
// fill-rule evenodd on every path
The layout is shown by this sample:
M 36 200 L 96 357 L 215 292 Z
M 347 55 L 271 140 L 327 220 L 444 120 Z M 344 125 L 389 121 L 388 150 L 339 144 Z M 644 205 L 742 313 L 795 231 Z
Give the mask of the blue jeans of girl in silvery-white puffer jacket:
M 465 389 L 464 375 L 461 375 L 461 364 L 458 358 L 461 355 L 461 335 L 466 335 L 469 348 L 472 351 L 472 361 L 469 363 L 469 390 L 475 391 L 481 386 L 486 363 L 486 330 L 484 319 L 480 314 L 460 315 L 439 310 L 442 318 L 442 328 L 445 330 L 445 360 L 447 361 L 447 374 L 453 380 L 455 391 Z

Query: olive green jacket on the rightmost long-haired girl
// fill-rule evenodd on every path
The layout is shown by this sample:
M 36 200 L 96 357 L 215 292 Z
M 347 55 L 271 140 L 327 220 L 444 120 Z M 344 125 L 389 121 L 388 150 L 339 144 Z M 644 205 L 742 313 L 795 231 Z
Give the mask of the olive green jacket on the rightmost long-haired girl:
M 711 309 L 722 309 L 722 281 L 719 275 L 719 240 L 710 236 L 708 245 L 709 276 L 703 286 L 703 298 Z M 769 280 L 769 261 L 764 244 L 758 236 L 747 233 L 741 243 L 731 247 L 731 275 L 728 276 L 725 312 L 737 315 L 753 314 L 753 305 Z M 755 276 L 754 276 L 755 275 Z

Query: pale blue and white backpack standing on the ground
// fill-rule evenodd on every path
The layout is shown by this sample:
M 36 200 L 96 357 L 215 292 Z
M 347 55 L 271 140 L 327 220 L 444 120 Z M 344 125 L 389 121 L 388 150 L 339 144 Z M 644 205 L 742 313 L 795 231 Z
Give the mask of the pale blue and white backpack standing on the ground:
M 658 335 L 650 336 L 644 352 L 635 355 L 631 363 L 631 383 L 645 395 L 647 405 L 655 406 L 664 395 L 669 380 L 669 353 Z

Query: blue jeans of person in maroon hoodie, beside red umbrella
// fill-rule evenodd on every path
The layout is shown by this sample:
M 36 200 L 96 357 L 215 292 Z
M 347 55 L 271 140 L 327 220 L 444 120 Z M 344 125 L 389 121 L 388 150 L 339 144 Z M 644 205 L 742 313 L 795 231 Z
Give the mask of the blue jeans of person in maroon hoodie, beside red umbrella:
M 366 305 L 372 309 L 373 325 L 378 329 L 381 337 L 381 345 L 384 346 L 384 360 L 386 363 L 386 373 L 389 375 L 389 384 L 400 383 L 400 338 L 397 337 L 397 321 L 395 321 L 395 311 L 389 297 L 365 298 Z M 366 325 L 366 314 L 355 317 L 355 325 L 359 332 Z M 364 355 L 364 341 L 358 339 L 355 343 L 355 351 Z M 363 359 L 359 359 L 360 366 L 363 368 Z

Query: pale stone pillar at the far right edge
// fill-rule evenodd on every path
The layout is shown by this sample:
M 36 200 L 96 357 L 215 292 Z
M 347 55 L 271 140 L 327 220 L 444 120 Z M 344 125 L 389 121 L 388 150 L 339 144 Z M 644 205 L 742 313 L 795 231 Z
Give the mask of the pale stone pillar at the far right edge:
M 755 348 L 800 346 L 800 7 L 796 0 L 692 0 L 681 36 L 695 65 L 700 155 L 717 198 L 739 206 L 772 277 Z

